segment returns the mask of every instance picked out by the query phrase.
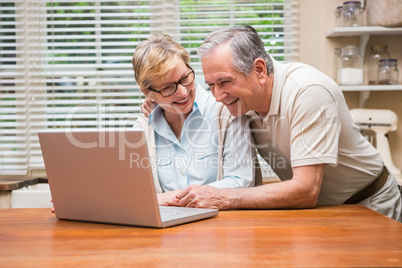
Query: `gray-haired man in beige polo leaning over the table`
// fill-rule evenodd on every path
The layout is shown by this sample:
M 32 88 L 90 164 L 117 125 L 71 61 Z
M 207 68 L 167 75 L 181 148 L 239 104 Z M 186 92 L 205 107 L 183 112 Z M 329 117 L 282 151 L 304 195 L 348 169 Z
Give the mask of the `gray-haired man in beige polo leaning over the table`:
M 235 116 L 247 114 L 260 155 L 281 182 L 255 188 L 191 185 L 181 206 L 312 208 L 362 204 L 401 221 L 401 194 L 359 133 L 338 85 L 311 66 L 270 58 L 250 26 L 212 32 L 198 50 L 205 82 Z

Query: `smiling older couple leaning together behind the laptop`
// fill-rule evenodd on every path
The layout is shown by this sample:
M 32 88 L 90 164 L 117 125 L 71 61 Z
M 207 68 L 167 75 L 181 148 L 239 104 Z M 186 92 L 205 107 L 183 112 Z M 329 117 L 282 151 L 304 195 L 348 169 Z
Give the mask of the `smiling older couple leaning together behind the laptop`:
M 132 58 L 160 205 L 226 209 L 362 204 L 401 221 L 401 194 L 329 77 L 266 52 L 251 26 L 223 27 L 198 49 L 205 83 L 168 35 Z M 157 104 L 153 109 L 151 99 Z M 255 149 L 280 182 L 262 185 Z

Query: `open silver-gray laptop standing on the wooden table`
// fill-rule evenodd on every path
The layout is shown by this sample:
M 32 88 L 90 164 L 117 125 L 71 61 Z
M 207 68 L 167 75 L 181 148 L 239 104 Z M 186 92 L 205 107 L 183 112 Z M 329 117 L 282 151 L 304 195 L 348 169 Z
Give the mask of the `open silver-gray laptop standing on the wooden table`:
M 143 130 L 38 133 L 56 217 L 165 228 L 218 215 L 159 206 Z

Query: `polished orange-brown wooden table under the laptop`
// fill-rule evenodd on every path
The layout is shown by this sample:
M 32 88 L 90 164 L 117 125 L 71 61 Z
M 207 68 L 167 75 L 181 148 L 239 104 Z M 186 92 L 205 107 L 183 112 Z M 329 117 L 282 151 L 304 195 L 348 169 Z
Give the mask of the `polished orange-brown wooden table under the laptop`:
M 168 229 L 0 209 L 0 267 L 402 266 L 402 224 L 359 205 L 222 211 Z

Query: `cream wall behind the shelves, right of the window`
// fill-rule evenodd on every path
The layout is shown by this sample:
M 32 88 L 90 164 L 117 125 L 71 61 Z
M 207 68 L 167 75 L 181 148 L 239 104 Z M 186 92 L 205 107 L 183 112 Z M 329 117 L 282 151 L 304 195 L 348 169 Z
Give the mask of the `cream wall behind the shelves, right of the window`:
M 335 8 L 341 0 L 300 0 L 299 3 L 299 61 L 310 64 L 333 77 L 333 55 L 335 47 L 358 45 L 357 37 L 326 38 L 325 34 L 334 27 Z M 392 58 L 398 59 L 400 80 L 402 77 L 402 36 L 370 37 L 367 44 L 386 44 Z M 366 49 L 369 50 L 369 49 Z M 359 94 L 345 92 L 350 109 L 358 107 Z M 391 109 L 399 117 L 398 130 L 389 134 L 391 153 L 399 169 L 402 169 L 402 91 L 371 92 L 366 108 Z

